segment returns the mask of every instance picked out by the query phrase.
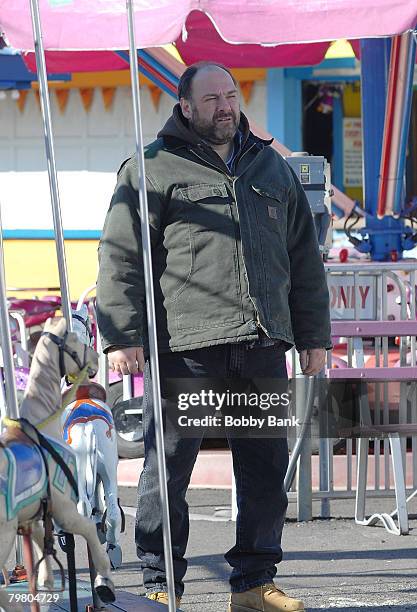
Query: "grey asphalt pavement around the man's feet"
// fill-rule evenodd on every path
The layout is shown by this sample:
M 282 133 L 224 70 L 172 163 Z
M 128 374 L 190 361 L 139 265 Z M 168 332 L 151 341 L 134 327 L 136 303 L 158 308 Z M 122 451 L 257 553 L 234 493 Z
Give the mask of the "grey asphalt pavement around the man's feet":
M 188 493 L 191 526 L 189 568 L 181 604 L 184 612 L 226 612 L 229 566 L 223 554 L 234 544 L 235 524 L 216 508 L 230 505 L 230 491 L 193 489 Z M 136 490 L 120 489 L 126 510 L 123 566 L 113 573 L 120 591 L 143 594 L 133 539 Z M 390 502 L 382 502 L 386 509 Z M 387 505 L 388 504 L 388 505 Z M 375 508 L 375 502 L 370 509 Z M 319 513 L 318 503 L 314 515 Z M 410 535 L 393 536 L 383 527 L 355 525 L 353 501 L 331 504 L 332 518 L 297 523 L 290 503 L 284 528 L 284 560 L 276 584 L 303 599 L 306 610 L 417 612 L 417 500 L 410 502 Z M 220 516 L 219 516 L 220 514 Z M 227 512 L 226 512 L 227 514 Z M 77 541 L 79 578 L 88 580 L 85 546 Z M 136 604 L 129 608 L 134 612 Z M 158 606 L 159 608 L 159 606 Z

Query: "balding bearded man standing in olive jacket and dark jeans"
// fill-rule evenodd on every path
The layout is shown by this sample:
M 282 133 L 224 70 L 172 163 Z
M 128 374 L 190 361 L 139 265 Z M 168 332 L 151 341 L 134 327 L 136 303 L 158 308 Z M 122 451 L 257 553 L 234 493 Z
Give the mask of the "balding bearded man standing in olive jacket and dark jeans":
M 282 157 L 250 132 L 223 66 L 190 66 L 179 104 L 146 147 L 161 380 L 285 378 L 294 343 L 304 374 L 330 348 L 328 291 L 311 211 Z M 136 545 L 147 597 L 168 603 L 148 359 L 136 159 L 120 169 L 100 243 L 99 327 L 110 367 L 144 370 L 145 467 Z M 163 409 L 167 402 L 162 398 Z M 187 562 L 185 495 L 200 438 L 165 431 L 174 578 Z M 282 438 L 231 438 L 238 517 L 230 612 L 304 610 L 273 578 L 282 559 L 288 448 Z

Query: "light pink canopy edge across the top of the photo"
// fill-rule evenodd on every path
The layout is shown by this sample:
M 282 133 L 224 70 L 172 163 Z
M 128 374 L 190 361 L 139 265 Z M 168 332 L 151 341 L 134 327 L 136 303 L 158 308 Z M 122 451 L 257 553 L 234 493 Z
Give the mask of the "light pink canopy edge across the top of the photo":
M 39 0 L 45 49 L 128 48 L 125 0 Z M 175 41 L 188 14 L 206 13 L 230 43 L 300 43 L 399 34 L 417 22 L 410 0 L 135 0 L 140 47 Z M 0 26 L 33 49 L 28 0 L 0 0 Z

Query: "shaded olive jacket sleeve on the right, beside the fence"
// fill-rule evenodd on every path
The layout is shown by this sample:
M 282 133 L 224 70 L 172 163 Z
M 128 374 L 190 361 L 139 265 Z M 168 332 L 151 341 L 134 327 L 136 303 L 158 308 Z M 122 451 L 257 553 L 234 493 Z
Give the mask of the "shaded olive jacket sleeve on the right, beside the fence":
M 293 170 L 287 217 L 287 248 L 290 258 L 289 307 L 298 351 L 332 348 L 329 291 L 319 251 L 313 215 L 304 190 Z

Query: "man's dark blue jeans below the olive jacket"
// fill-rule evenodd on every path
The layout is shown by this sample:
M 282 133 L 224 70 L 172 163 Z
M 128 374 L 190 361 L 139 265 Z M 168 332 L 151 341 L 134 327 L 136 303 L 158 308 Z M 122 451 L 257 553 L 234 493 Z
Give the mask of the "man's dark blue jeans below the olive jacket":
M 159 356 L 164 378 L 287 378 L 283 343 L 250 347 L 228 344 Z M 135 541 L 147 592 L 166 591 L 155 428 L 149 362 L 144 388 L 145 465 L 138 487 Z M 162 398 L 162 409 L 167 400 Z M 286 438 L 230 437 L 236 479 L 236 544 L 225 555 L 232 567 L 231 590 L 246 591 L 271 582 L 282 559 L 281 534 L 288 501 L 283 487 L 288 465 Z M 165 456 L 176 594 L 184 591 L 184 559 L 189 535 L 185 495 L 201 438 L 181 437 L 165 423 Z

